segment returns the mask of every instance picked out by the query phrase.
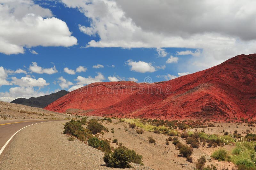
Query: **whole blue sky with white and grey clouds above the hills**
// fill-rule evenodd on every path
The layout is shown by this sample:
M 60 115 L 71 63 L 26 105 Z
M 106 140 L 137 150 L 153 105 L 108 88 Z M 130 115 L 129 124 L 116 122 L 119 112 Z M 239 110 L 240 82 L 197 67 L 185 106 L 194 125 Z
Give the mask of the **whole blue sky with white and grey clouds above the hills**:
M 200 5 L 218 4 L 187 7 L 193 15 L 176 11 L 179 19 L 191 17 L 201 24 L 195 27 L 190 20 L 184 25 L 172 18 L 174 14 L 163 11 L 160 2 L 148 6 L 138 2 L 135 9 L 132 3 L 137 2 L 0 0 L 0 21 L 4 23 L 0 24 L 4 30 L 0 34 L 0 100 L 37 97 L 61 89 L 71 91 L 100 81 L 143 82 L 147 76 L 152 82 L 166 81 L 238 54 L 255 52 L 255 37 L 248 39 L 231 27 L 208 27 L 221 26 L 218 17 L 232 20 L 230 15 L 216 16 L 218 11 L 207 11 L 216 17 L 211 18 L 212 23 L 204 18 L 195 20 Z M 184 8 L 181 3 L 168 5 Z M 254 12 L 240 15 L 250 18 Z M 242 23 L 233 19 L 230 24 L 237 22 Z M 95 68 L 97 65 L 99 68 Z M 76 70 L 79 66 L 80 71 Z

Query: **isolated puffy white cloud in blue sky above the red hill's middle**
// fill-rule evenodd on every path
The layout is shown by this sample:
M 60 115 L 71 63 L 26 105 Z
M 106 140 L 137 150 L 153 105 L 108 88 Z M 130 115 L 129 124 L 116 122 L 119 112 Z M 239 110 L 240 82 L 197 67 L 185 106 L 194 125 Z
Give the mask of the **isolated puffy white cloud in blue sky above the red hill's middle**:
M 128 60 L 127 61 L 129 66 L 131 67 L 131 71 L 136 71 L 136 72 L 140 72 L 140 73 L 146 73 L 146 72 L 155 72 L 156 69 L 154 66 L 151 65 L 151 63 L 147 63 L 144 61 L 132 61 L 132 60 Z

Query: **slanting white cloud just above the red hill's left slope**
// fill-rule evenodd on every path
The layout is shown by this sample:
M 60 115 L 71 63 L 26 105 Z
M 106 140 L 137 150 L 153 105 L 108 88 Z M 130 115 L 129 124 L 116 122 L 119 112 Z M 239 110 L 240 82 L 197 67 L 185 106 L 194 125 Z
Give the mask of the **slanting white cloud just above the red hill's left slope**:
M 78 76 L 75 80 L 75 81 L 77 81 L 76 85 L 72 86 L 70 89 L 68 89 L 68 91 L 73 91 L 73 90 L 81 88 L 85 85 L 88 85 L 88 84 L 91 84 L 94 82 L 102 82 L 103 80 L 105 80 L 105 77 L 100 72 L 98 72 L 97 74 L 98 75 L 96 75 L 94 78 L 91 76 L 89 76 L 87 78 Z

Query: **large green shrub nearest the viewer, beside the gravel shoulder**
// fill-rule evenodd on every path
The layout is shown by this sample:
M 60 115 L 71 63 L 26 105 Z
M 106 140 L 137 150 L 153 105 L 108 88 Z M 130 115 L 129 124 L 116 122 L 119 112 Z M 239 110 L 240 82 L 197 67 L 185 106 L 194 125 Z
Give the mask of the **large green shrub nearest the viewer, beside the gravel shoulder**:
M 142 164 L 142 156 L 124 146 L 119 146 L 112 153 L 105 153 L 103 160 L 107 166 L 117 168 L 130 168 L 130 162 Z

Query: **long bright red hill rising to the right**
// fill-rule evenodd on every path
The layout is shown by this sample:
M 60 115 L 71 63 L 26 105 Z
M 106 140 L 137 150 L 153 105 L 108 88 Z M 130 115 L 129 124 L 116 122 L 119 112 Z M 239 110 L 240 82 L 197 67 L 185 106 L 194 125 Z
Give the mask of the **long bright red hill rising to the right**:
M 81 109 L 79 114 L 159 119 L 254 117 L 256 54 L 238 55 L 170 81 L 92 83 L 44 109 Z

